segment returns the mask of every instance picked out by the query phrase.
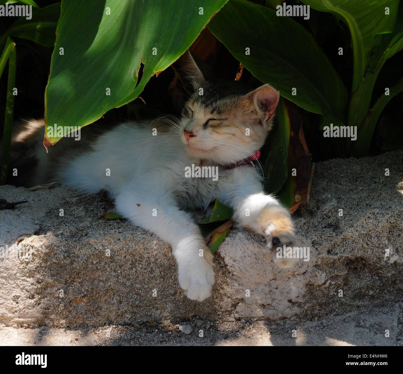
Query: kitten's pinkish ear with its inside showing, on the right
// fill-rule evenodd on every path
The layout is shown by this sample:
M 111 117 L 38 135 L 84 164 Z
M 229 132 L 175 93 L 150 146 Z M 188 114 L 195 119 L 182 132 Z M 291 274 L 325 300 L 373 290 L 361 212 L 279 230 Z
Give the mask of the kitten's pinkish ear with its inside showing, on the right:
M 249 94 L 245 95 L 245 98 L 253 104 L 264 123 L 273 118 L 278 100 L 280 100 L 280 92 L 269 84 L 264 84 L 249 92 Z

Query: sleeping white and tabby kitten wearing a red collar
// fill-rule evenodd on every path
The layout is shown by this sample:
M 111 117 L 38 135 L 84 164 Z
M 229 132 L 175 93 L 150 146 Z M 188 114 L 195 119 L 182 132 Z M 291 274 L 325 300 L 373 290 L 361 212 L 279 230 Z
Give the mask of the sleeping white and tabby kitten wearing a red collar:
M 206 208 L 218 198 L 234 210 L 237 224 L 264 235 L 268 247 L 292 245 L 295 237 L 288 210 L 262 191 L 262 177 L 247 162 L 270 131 L 278 91 L 268 84 L 251 90 L 235 81 L 208 82 L 190 54 L 187 59 L 193 90 L 168 131 L 123 123 L 78 156 L 59 154 L 54 173 L 49 171 L 56 156 L 42 152 L 36 176 L 39 183 L 57 180 L 87 193 L 110 191 L 120 214 L 172 245 L 180 286 L 189 299 L 203 301 L 214 283 L 213 256 L 182 208 Z M 43 125 L 31 123 L 26 131 Z M 15 146 L 24 140 L 19 136 Z M 189 177 L 185 170 L 197 166 L 216 168 L 218 179 Z M 293 264 L 273 259 L 280 267 Z

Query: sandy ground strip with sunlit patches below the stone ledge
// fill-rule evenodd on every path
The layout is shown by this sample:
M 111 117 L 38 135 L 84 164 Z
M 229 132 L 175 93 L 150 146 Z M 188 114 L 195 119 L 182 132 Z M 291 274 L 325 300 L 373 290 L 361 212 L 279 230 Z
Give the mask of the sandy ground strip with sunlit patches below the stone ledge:
M 399 303 L 294 323 L 287 320 L 214 322 L 193 318 L 181 323 L 191 327 L 188 335 L 179 330 L 179 324 L 168 322 L 142 322 L 138 326 L 106 323 L 88 329 L 0 326 L 0 345 L 403 346 L 402 322 L 403 303 Z M 385 336 L 386 330 L 389 337 Z

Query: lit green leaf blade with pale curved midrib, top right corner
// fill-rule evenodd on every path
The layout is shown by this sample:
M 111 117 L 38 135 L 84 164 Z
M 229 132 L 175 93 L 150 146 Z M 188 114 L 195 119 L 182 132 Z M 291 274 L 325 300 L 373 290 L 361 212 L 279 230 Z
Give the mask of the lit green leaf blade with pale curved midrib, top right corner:
M 391 33 L 396 22 L 399 0 L 303 0 L 316 10 L 331 12 L 349 27 L 353 43 L 354 92 L 366 74 L 373 48 L 382 40 L 382 34 Z M 385 8 L 389 8 L 389 15 Z

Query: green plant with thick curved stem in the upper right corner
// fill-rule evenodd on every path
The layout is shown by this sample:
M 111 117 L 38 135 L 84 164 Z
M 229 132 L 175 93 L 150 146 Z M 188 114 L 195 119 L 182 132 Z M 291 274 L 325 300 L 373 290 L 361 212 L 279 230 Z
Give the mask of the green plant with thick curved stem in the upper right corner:
M 382 66 L 403 48 L 403 7 L 399 0 L 304 0 L 316 10 L 330 12 L 350 30 L 353 79 L 347 124 L 358 127 L 357 141 L 347 144 L 351 156 L 368 154 L 379 115 L 391 98 L 402 91 L 400 80 L 370 108 Z M 387 92 L 386 92 L 387 93 Z

